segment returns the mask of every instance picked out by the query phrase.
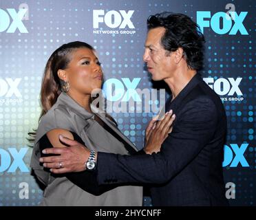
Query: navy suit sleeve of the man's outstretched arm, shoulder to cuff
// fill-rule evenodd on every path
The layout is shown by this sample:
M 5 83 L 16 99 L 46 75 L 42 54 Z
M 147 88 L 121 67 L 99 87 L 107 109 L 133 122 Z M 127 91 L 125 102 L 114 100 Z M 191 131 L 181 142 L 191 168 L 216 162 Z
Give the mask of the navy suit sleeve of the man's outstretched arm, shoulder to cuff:
M 188 102 L 179 115 L 159 153 L 98 153 L 98 184 L 164 184 L 184 169 L 213 137 L 217 111 L 211 100 L 198 98 Z

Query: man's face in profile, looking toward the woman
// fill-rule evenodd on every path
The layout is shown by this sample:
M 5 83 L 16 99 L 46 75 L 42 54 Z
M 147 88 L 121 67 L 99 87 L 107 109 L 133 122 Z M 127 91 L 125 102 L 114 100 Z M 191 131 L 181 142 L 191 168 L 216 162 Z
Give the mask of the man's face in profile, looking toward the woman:
M 167 56 L 166 50 L 160 43 L 164 32 L 165 29 L 162 27 L 149 30 L 145 42 L 143 61 L 147 63 L 148 72 L 152 74 L 152 79 L 155 81 L 171 77 L 175 68 L 174 54 Z

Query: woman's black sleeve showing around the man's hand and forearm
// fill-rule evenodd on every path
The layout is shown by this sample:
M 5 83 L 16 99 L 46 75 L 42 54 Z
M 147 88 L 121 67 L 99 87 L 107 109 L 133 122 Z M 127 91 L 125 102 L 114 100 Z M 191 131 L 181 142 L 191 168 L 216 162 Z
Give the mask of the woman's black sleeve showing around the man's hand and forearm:
M 76 133 L 72 132 L 72 135 L 74 136 L 74 140 L 85 145 L 81 137 L 79 137 Z M 43 151 L 44 148 L 53 147 L 47 135 L 44 135 L 43 137 L 41 137 L 41 139 L 39 140 L 39 147 L 41 151 Z M 42 156 L 47 157 L 50 155 L 45 155 L 42 153 Z M 65 173 L 64 175 L 56 175 L 56 174 L 52 174 L 52 175 L 54 175 L 54 177 L 65 176 L 67 177 L 67 179 L 72 181 L 73 184 L 75 184 L 76 186 L 82 188 L 83 190 L 93 195 L 101 195 L 103 192 L 106 192 L 116 187 L 114 184 L 99 186 L 96 179 L 96 171 L 92 171 L 92 172 L 82 171 L 78 173 Z

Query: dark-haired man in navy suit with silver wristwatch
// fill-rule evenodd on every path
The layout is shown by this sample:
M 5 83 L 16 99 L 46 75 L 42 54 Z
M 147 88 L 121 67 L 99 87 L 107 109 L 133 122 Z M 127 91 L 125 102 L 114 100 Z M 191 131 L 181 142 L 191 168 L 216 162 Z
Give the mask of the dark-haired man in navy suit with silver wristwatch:
M 85 170 L 87 162 L 86 169 L 97 175 L 98 184 L 150 184 L 153 206 L 227 206 L 222 172 L 226 115 L 220 98 L 198 74 L 203 65 L 204 36 L 184 14 L 156 14 L 149 17 L 147 25 L 143 59 L 152 79 L 164 80 L 171 89 L 166 110 L 173 109 L 176 115 L 161 151 L 94 155 L 60 137 L 71 147 L 47 149 L 45 153 L 61 156 L 41 161 L 53 173 Z M 75 162 L 76 155 L 83 159 Z M 58 168 L 58 162 L 64 168 Z

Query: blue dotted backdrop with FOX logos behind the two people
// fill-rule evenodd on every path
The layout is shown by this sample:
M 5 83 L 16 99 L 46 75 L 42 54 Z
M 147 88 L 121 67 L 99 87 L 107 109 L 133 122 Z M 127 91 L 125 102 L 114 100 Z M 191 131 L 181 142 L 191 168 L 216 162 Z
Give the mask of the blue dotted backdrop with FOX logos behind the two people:
M 146 21 L 166 10 L 187 14 L 204 32 L 202 76 L 222 98 L 228 118 L 226 197 L 232 206 L 255 206 L 255 4 L 250 0 L 1 0 L 0 206 L 36 206 L 42 197 L 30 175 L 32 149 L 25 137 L 38 124 L 41 78 L 50 54 L 63 43 L 85 41 L 103 63 L 106 88 L 115 85 L 121 98 L 127 89 L 153 88 L 142 61 Z M 153 113 L 111 115 L 142 148 Z M 145 206 L 150 204 L 145 197 Z

